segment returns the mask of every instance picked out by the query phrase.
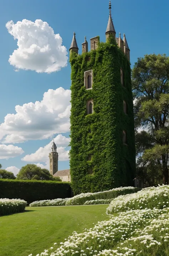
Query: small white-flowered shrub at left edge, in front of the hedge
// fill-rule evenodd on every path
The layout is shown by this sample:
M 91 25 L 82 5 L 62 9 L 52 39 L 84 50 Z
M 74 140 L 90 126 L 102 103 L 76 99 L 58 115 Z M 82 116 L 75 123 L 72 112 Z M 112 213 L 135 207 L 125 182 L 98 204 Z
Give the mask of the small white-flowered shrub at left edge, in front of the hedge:
M 0 199 L 0 215 L 23 212 L 27 202 L 20 199 Z

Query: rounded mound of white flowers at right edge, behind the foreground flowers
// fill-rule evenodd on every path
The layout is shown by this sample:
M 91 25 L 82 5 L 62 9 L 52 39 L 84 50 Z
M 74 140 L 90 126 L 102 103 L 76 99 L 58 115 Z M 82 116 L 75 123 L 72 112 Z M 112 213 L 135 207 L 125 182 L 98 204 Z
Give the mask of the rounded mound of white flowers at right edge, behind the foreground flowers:
M 134 209 L 163 209 L 169 207 L 169 185 L 145 188 L 132 195 L 122 195 L 112 200 L 108 214 Z

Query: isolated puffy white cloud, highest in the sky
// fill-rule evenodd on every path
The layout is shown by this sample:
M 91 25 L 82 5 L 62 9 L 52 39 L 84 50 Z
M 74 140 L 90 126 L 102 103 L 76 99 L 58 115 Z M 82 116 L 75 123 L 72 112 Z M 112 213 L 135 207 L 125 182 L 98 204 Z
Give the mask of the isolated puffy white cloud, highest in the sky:
M 9 63 L 19 69 L 51 73 L 67 66 L 67 50 L 62 38 L 55 34 L 47 22 L 23 19 L 16 24 L 6 23 L 8 32 L 17 39 L 17 49 L 9 57 Z

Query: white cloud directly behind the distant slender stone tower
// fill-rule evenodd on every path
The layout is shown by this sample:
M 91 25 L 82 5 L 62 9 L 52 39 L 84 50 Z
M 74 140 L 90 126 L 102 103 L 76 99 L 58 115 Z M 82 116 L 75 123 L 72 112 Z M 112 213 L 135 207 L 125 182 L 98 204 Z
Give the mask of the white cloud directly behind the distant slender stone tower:
M 69 150 L 66 150 L 66 146 L 68 146 L 70 142 L 70 138 L 66 138 L 65 136 L 62 136 L 59 134 L 56 136 L 54 139 L 56 146 L 57 145 L 62 145 L 60 147 L 57 147 L 57 152 L 58 152 L 58 160 L 59 161 L 67 161 L 69 160 Z M 48 143 L 45 147 L 40 147 L 35 153 L 32 153 L 31 155 L 26 155 L 24 156 L 21 160 L 26 161 L 26 162 L 38 162 L 37 165 L 40 166 L 41 168 L 46 168 L 44 165 L 40 164 L 40 162 L 45 162 L 46 165 L 48 166 L 48 161 L 49 161 L 49 153 L 51 152 L 51 147 L 52 147 L 53 141 Z M 63 147 L 63 145 L 65 147 Z

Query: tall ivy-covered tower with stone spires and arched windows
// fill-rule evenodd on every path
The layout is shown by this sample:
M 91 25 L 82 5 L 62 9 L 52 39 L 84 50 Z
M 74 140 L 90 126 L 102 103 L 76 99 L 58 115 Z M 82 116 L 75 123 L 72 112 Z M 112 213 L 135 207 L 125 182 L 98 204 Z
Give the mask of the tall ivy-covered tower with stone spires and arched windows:
M 82 43 L 75 33 L 71 63 L 71 182 L 75 194 L 134 185 L 135 140 L 130 50 L 116 38 L 111 16 L 106 42 Z

